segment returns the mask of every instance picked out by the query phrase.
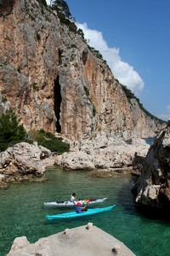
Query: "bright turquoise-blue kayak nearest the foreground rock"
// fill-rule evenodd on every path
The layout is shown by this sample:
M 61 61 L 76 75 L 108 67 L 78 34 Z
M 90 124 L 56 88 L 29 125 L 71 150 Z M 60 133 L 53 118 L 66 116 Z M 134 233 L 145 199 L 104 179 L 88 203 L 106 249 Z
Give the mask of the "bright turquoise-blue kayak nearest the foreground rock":
M 82 216 L 96 214 L 96 213 L 99 213 L 99 212 L 111 211 L 111 209 L 113 209 L 113 207 L 116 207 L 116 205 L 113 205 L 111 207 L 88 209 L 88 211 L 81 212 L 81 213 L 65 212 L 65 213 L 56 214 L 56 215 L 46 215 L 46 218 L 48 218 L 48 220 L 53 220 L 53 219 L 57 219 L 57 218 L 78 218 L 78 217 L 82 217 Z

